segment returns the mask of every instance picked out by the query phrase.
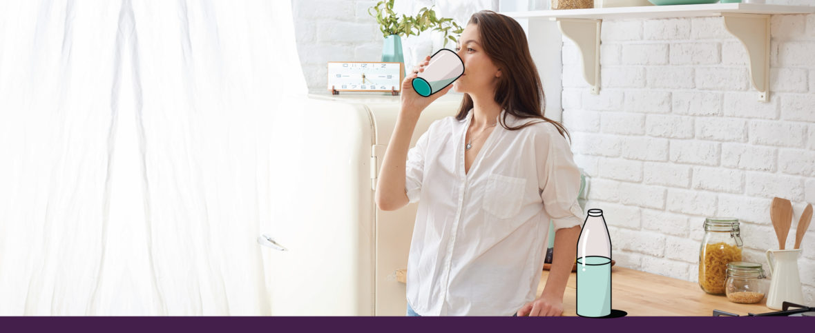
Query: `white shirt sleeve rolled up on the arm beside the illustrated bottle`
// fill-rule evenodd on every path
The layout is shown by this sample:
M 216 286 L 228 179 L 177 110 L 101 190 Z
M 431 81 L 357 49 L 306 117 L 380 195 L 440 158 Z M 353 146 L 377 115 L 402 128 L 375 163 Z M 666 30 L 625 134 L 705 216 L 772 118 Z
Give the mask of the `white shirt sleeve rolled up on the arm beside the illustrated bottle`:
M 580 226 L 584 220 L 583 209 L 577 201 L 580 170 L 566 138 L 556 130 L 541 130 L 535 136 L 535 159 L 540 199 L 554 228 Z

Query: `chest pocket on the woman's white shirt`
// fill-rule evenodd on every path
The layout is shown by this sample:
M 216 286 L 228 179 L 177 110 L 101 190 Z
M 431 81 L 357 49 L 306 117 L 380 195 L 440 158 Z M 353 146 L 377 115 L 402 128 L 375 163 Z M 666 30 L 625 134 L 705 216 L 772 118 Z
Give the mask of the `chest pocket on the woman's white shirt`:
M 484 211 L 498 218 L 513 217 L 521 208 L 525 186 L 525 178 L 490 174 L 484 190 Z

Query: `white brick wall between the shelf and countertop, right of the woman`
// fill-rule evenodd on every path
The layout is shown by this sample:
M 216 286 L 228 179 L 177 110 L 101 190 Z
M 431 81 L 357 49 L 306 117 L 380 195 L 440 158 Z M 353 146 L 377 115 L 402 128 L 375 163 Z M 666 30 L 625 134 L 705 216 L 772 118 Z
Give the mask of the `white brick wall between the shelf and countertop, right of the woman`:
M 744 47 L 721 20 L 606 20 L 602 50 L 615 53 L 601 55 L 601 95 L 563 95 L 574 106 L 566 113 L 599 113 L 575 147 L 579 160 L 597 163 L 587 205 L 615 221 L 619 265 L 696 281 L 703 221 L 716 216 L 740 219 L 745 258 L 764 264 L 764 251 L 778 247 L 773 196 L 794 203 L 788 239 L 804 203 L 815 204 L 815 15 L 773 16 L 767 103 L 756 100 Z M 582 81 L 580 70 L 564 67 L 564 81 Z M 815 274 L 815 247 L 799 264 L 802 277 Z M 813 303 L 815 279 L 802 280 Z

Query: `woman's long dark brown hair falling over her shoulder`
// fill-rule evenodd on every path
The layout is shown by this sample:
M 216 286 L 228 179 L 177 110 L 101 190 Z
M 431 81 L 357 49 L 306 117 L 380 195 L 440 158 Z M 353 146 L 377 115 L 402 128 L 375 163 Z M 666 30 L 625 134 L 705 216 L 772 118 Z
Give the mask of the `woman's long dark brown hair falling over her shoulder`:
M 521 24 L 495 11 L 478 11 L 470 16 L 467 24 L 478 25 L 478 37 L 481 39 L 484 52 L 503 73 L 498 77 L 496 85 L 496 103 L 504 108 L 506 113 L 518 118 L 535 118 L 550 122 L 564 138 L 567 136 L 571 138 L 561 123 L 544 116 L 546 101 L 544 85 L 540 83 L 538 68 L 532 60 L 526 33 Z M 464 120 L 471 108 L 473 98 L 465 93 L 456 119 Z M 504 129 L 518 130 L 540 122 L 528 121 L 518 127 L 509 127 L 506 124 L 506 113 L 500 120 Z

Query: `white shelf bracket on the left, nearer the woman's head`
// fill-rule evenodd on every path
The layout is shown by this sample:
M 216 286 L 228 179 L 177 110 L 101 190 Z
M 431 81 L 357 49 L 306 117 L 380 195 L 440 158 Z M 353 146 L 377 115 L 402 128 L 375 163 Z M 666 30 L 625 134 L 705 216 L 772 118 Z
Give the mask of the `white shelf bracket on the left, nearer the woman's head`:
M 600 94 L 600 27 L 603 20 L 557 18 L 563 36 L 569 37 L 583 58 L 583 77 Z

